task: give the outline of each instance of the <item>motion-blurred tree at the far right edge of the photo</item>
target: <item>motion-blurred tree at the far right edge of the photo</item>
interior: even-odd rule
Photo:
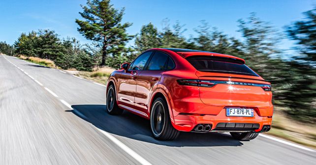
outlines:
[[[297,42],[297,55],[289,62],[291,91],[285,99],[298,119],[316,122],[316,8],[304,13],[306,18],[286,27],[287,35]]]

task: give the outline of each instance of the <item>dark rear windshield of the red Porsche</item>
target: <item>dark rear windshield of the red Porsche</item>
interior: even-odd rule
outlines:
[[[258,76],[245,64],[230,58],[191,56],[187,60],[198,71]]]

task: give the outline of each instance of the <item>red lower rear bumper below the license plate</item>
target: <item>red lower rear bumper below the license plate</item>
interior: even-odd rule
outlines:
[[[212,125],[210,132],[260,132],[264,125],[271,125],[271,123],[272,116],[260,116],[257,111],[254,111],[253,117],[232,117],[226,116],[226,110],[222,109],[217,115],[205,114],[200,116],[180,113],[174,116],[173,126],[184,132],[194,131],[194,127],[198,124]]]

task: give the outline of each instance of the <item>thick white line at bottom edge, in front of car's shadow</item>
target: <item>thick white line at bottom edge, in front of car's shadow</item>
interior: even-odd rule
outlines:
[[[129,147],[127,147],[123,142],[121,142],[119,139],[115,138],[113,135],[111,135],[108,132],[105,132],[97,127],[95,127],[98,131],[100,131],[103,135],[105,135],[107,138],[109,138],[112,142],[114,142],[116,145],[118,145],[121,149],[123,149],[128,155],[133,157],[136,161],[138,161],[142,165],[152,165],[148,161],[146,161],[143,157],[138,155],[136,152],[131,150]]]

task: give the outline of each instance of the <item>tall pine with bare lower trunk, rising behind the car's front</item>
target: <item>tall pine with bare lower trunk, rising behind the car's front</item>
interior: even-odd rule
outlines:
[[[126,33],[126,28],[131,24],[121,24],[124,8],[120,11],[115,9],[110,0],[88,0],[87,6],[81,6],[83,12],[79,13],[85,20],[76,19],[78,31],[102,46],[101,65],[104,65],[109,53],[120,53],[126,49],[126,42],[132,38]]]

